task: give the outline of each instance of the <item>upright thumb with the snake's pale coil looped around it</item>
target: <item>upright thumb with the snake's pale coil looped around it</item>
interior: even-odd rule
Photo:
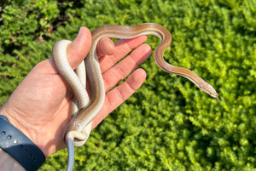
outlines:
[[[90,50],[90,30],[81,27],[79,35],[67,47],[67,58],[70,66],[75,69],[84,60]]]

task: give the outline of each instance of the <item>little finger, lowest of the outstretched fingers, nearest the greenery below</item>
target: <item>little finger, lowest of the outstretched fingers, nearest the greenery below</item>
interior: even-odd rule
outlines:
[[[137,88],[141,87],[145,79],[146,72],[143,69],[137,69],[127,78],[125,83],[120,84],[118,87],[108,92],[102,110],[92,122],[92,128],[96,128],[111,111],[127,100],[131,94],[134,94]]]

